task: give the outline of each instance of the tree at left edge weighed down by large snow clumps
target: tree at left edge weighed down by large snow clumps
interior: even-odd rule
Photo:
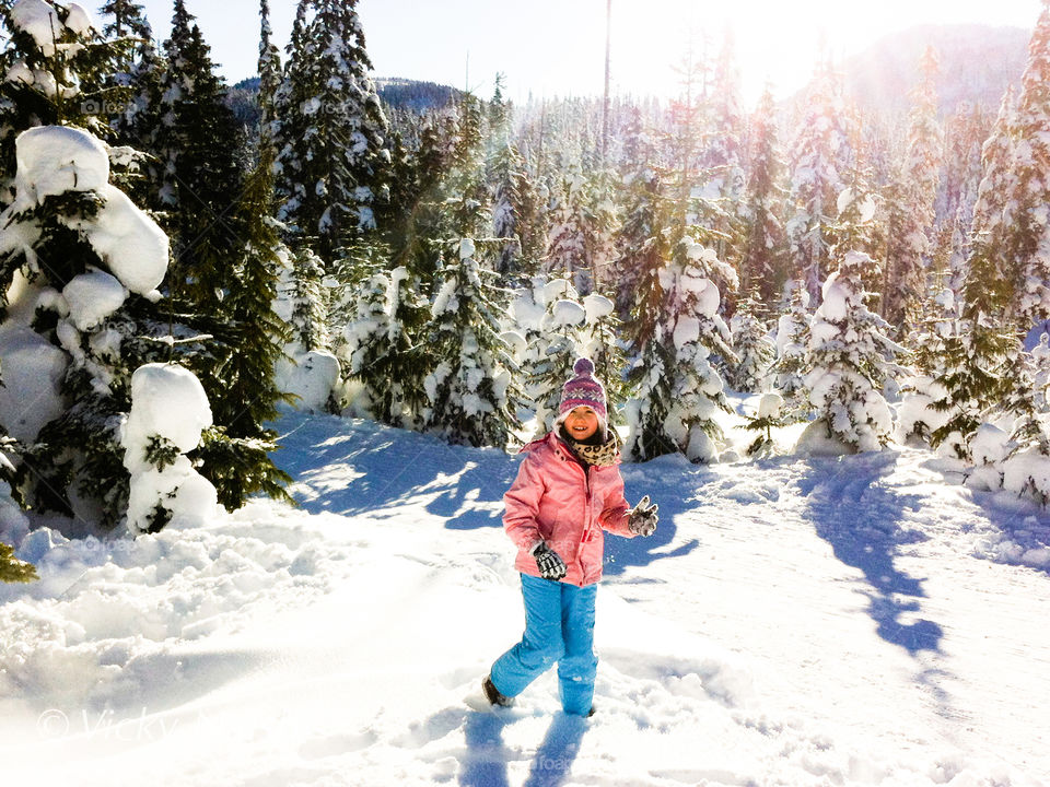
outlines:
[[[25,505],[116,526],[130,371],[170,356],[155,305],[167,237],[109,180],[105,144],[58,126],[18,138],[0,214],[0,420],[25,446]]]

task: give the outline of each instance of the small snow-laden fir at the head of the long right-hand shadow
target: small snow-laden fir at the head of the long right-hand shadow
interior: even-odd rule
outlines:
[[[894,425],[883,386],[897,371],[887,357],[901,349],[886,337],[886,321],[865,305],[862,277],[876,265],[859,251],[842,257],[824,283],[806,345],[805,386],[817,427],[854,451],[879,449]]]

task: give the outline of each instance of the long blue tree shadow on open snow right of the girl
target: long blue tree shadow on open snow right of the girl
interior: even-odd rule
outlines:
[[[838,560],[864,574],[867,587],[862,592],[878,635],[912,656],[941,653],[943,629],[917,616],[926,598],[923,580],[895,565],[901,547],[926,538],[901,526],[905,510],[918,508],[922,497],[898,494],[880,483],[896,461],[891,451],[810,459],[812,472],[798,486],[808,498],[807,514],[817,535],[831,544]],[[901,620],[906,614],[912,622]]]

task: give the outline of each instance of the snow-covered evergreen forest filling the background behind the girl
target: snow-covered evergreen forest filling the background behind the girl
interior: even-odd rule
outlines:
[[[586,355],[630,461],[718,461],[747,392],[758,434],[925,445],[1045,504],[1043,5],[998,108],[942,115],[931,48],[901,116],[827,56],[746,111],[731,38],[670,102],[384,99],[355,0],[300,0],[283,52],[261,0],[234,91],[182,0],[163,43],[133,2],[3,0],[0,497],[81,535],[288,498],[285,406],[513,450]]]

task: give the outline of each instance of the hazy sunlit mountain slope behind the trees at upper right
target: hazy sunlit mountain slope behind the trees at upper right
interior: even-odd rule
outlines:
[[[919,78],[918,63],[928,46],[937,50],[941,111],[970,102],[999,108],[1006,85],[1019,86],[1031,31],[987,25],[921,25],[882,38],[845,59],[847,93],[862,109],[907,113],[909,92]]]

